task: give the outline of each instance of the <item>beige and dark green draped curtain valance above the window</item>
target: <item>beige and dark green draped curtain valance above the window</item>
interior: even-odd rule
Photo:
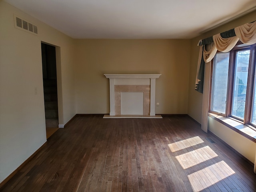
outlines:
[[[195,88],[198,92],[203,93],[205,63],[210,62],[214,58],[217,50],[220,52],[229,52],[232,50],[238,40],[241,40],[241,42],[248,45],[256,43],[256,22],[238,26],[232,30],[216,34],[210,38],[206,38],[198,42],[198,45],[201,47],[198,58],[198,65],[200,66],[198,66],[198,71],[196,74]],[[212,46],[210,50],[207,51],[205,44],[209,43],[211,43]]]

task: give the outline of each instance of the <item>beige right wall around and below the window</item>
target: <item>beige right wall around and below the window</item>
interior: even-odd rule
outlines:
[[[230,30],[236,26],[252,22],[256,18],[256,12],[252,12],[236,19],[232,22],[224,24],[210,32],[202,34],[191,40],[191,58],[190,58],[190,78],[189,78],[189,96],[188,96],[188,115],[194,118],[196,121],[201,123],[202,118],[202,94],[194,90],[197,61],[199,54],[199,47],[197,43],[200,39],[207,38],[214,34]],[[232,146],[235,150],[240,152],[243,156],[248,158],[251,162],[254,162],[256,143],[250,141],[244,136],[234,132],[230,128],[220,124],[216,120],[208,117],[208,130],[214,133],[216,136],[224,140],[227,144]]]

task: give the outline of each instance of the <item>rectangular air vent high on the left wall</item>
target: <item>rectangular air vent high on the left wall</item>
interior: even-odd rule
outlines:
[[[32,33],[37,35],[37,26],[33,25],[31,22],[20,18],[19,16],[14,15],[14,26],[17,29]]]

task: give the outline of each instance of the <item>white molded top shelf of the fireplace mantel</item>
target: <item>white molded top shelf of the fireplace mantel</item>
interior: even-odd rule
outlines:
[[[109,79],[156,79],[161,74],[104,74]]]

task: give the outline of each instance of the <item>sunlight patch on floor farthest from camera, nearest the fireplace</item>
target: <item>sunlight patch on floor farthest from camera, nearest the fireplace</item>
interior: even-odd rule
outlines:
[[[168,144],[168,146],[172,152],[176,152],[191,146],[198,145],[203,142],[204,141],[199,136],[196,136],[196,137],[192,137],[192,138],[184,139],[182,141]]]

